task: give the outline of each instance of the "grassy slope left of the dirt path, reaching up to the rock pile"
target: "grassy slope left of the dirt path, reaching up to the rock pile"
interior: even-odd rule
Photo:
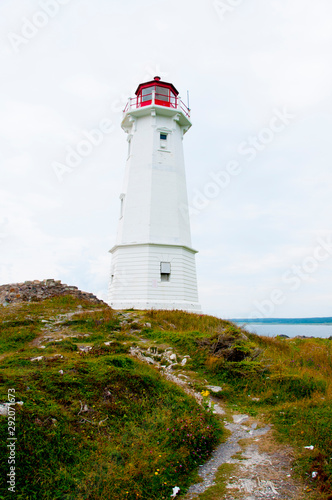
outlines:
[[[184,491],[220,440],[219,422],[128,355],[133,337],[112,310],[84,309],[89,304],[68,296],[0,309],[6,346],[0,400],[15,388],[24,403],[15,406],[16,498],[162,500],[174,486]],[[59,326],[61,314],[75,311]],[[18,341],[24,321],[31,336]],[[52,329],[42,330],[52,322],[60,328],[54,335],[66,339],[43,340],[41,350],[31,341],[49,336]],[[82,352],[82,344],[92,349]],[[7,456],[6,417],[0,417],[0,437]],[[0,468],[5,499],[7,461]]]

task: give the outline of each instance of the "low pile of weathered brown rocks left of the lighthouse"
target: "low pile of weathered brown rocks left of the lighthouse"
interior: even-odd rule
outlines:
[[[68,286],[53,279],[0,286],[0,304],[2,305],[16,302],[35,302],[58,295],[72,295],[78,299],[89,300],[93,304],[105,304],[92,293],[82,292],[76,286]]]

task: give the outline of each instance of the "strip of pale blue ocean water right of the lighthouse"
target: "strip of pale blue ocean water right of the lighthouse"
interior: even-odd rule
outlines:
[[[267,337],[276,337],[277,335],[288,335],[288,337],[297,337],[303,335],[306,337],[332,337],[332,325],[312,325],[312,324],[292,324],[292,325],[276,325],[276,324],[255,324],[236,322],[239,326],[245,326],[246,330],[257,335],[265,335]]]

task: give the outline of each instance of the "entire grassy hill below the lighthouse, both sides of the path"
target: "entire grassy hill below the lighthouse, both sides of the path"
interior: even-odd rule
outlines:
[[[199,391],[220,385],[230,407],[264,414],[295,446],[298,471],[318,472],[319,498],[332,498],[331,341],[264,338],[181,311],[115,312],[70,295],[0,306],[0,321],[0,402],[13,389],[23,402],[15,405],[16,498],[162,500],[197,480],[221,424],[131,356],[133,346],[166,365],[170,347],[190,356],[174,371],[194,373]],[[8,457],[5,414],[0,436]],[[0,499],[10,498],[9,467],[2,460]]]

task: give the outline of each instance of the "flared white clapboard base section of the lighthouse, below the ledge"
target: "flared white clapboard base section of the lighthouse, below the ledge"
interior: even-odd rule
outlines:
[[[192,248],[137,243],[117,245],[111,253],[108,304],[114,309],[201,311]]]

